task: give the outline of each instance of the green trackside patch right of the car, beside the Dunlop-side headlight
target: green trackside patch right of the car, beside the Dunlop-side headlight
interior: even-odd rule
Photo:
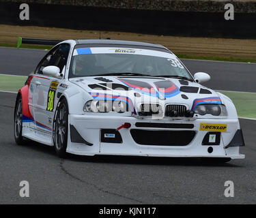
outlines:
[[[256,93],[220,92],[233,101],[238,116],[256,119]]]

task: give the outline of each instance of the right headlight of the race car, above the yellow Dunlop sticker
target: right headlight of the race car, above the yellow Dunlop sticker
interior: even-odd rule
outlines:
[[[196,114],[205,115],[212,114],[213,116],[227,116],[227,110],[223,104],[200,104],[195,109]]]

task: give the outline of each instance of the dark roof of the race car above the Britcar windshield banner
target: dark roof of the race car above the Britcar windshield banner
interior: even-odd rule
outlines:
[[[153,47],[153,48],[165,48],[165,46],[161,46],[159,44],[153,44],[148,42],[137,42],[137,41],[126,41],[126,40],[76,40],[76,44],[116,44],[116,45],[127,45],[127,46],[145,46],[145,47]],[[169,51],[169,50],[168,50]]]

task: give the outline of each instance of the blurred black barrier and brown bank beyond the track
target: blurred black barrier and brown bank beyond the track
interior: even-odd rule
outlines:
[[[29,20],[19,18],[21,3]],[[227,3],[234,20],[224,18]],[[255,0],[0,0],[0,44],[111,37],[163,44],[184,58],[255,62],[255,12]]]

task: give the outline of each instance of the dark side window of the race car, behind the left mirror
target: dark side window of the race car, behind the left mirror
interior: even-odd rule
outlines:
[[[36,74],[42,74],[44,67],[54,65],[59,67],[60,72],[66,65],[68,60],[68,53],[70,51],[69,44],[61,44],[53,48],[48,54],[40,61],[38,67],[35,69]]]

